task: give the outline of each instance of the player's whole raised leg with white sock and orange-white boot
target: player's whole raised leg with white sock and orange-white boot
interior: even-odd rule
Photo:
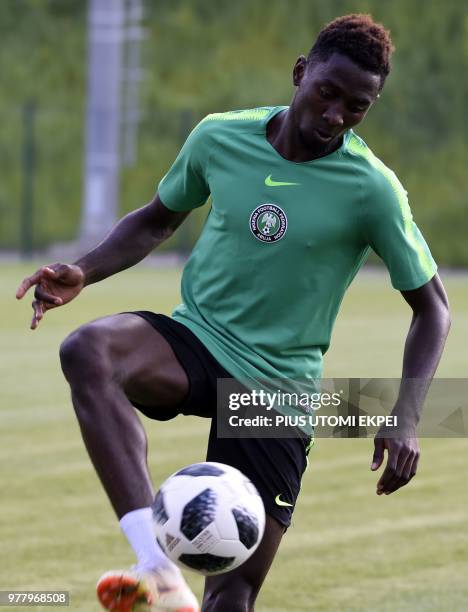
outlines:
[[[189,389],[185,371],[161,334],[134,314],[84,325],[60,356],[89,456],[137,557],[135,570],[100,578],[101,604],[118,611],[157,602],[197,612],[195,596],[154,537],[147,439],[129,400],[177,414]]]

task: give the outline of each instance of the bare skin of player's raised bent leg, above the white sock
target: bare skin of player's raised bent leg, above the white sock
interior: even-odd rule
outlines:
[[[146,434],[128,398],[176,414],[189,383],[172,348],[141,317],[119,314],[73,332],[60,357],[83,440],[117,516],[150,506]]]

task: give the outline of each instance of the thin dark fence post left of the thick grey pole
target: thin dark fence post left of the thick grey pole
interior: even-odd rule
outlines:
[[[21,255],[31,259],[34,247],[34,173],[36,104],[27,102],[23,107],[22,194],[21,194]]]

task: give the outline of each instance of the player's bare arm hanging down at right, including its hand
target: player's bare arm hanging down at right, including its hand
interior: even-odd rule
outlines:
[[[377,434],[372,459],[372,470],[383,462],[384,450],[388,460],[377,483],[377,494],[390,494],[406,485],[416,474],[419,444],[416,426],[423,402],[444,350],[450,329],[447,294],[439,276],[412,291],[402,291],[413,310],[403,357],[402,383],[392,414],[398,417],[399,437]]]

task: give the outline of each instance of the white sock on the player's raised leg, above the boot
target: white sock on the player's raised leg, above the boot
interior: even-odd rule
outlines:
[[[151,571],[172,565],[156,541],[152,514],[151,508],[139,508],[120,519],[122,531],[135,552],[137,570]]]

